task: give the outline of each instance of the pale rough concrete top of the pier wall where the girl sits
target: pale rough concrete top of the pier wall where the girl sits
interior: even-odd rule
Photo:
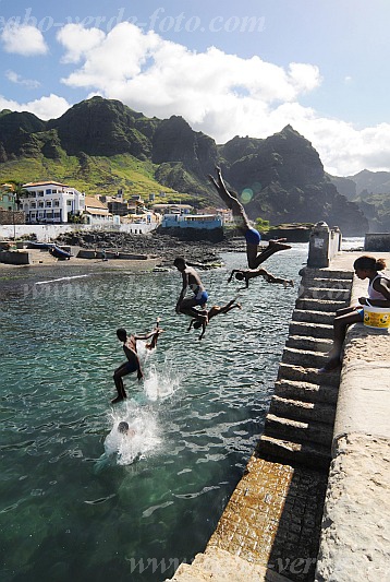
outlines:
[[[351,302],[366,294],[355,278]],[[389,331],[356,323],[344,343],[318,582],[389,580]]]

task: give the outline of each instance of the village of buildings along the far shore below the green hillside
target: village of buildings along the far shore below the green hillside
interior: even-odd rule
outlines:
[[[150,193],[147,201],[141,194],[125,197],[122,190],[113,197],[88,197],[62,182],[46,180],[19,185],[17,193],[14,188],[14,183],[4,183],[0,189],[0,246],[3,250],[0,262],[9,264],[36,264],[32,250],[25,250],[28,240],[32,239],[32,245],[49,245],[46,250],[50,250],[50,245],[65,233],[111,233],[114,248],[100,249],[97,245],[92,254],[87,250],[77,251],[78,258],[101,258],[103,253],[107,259],[119,259],[121,254],[122,260],[131,260],[134,251],[119,248],[115,233],[146,235],[159,229],[161,234],[200,242],[218,241],[223,239],[223,227],[232,224],[232,213],[228,209],[207,207],[197,212],[193,205],[181,202],[157,203],[155,193]],[[166,193],[159,192],[158,197],[164,200]],[[70,259],[70,247],[57,244],[56,257]],[[41,259],[40,256],[38,260]]]

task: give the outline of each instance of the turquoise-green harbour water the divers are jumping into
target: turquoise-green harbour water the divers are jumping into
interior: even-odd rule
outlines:
[[[267,269],[300,282],[307,246]],[[234,297],[228,270],[202,274],[209,305]],[[296,287],[263,280],[205,338],[174,313],[176,271],[83,276],[80,268],[1,273],[1,580],[160,581],[203,551],[261,432]],[[65,277],[65,278],[63,278]],[[66,278],[72,277],[72,278]],[[73,278],[74,277],[74,278]],[[125,379],[115,329],[161,317],[145,384]],[[119,438],[126,419],[133,438]]]

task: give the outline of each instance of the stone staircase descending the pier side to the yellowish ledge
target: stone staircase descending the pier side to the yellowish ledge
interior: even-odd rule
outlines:
[[[304,269],[289,338],[257,452],[266,459],[327,470],[340,371],[321,373],[334,311],[351,298],[353,274]]]

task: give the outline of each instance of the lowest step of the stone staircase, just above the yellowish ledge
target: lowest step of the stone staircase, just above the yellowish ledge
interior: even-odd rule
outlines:
[[[293,442],[263,435],[258,441],[257,451],[261,455],[267,455],[271,461],[281,460],[292,464],[303,464],[310,468],[329,470],[329,447],[319,443]]]

